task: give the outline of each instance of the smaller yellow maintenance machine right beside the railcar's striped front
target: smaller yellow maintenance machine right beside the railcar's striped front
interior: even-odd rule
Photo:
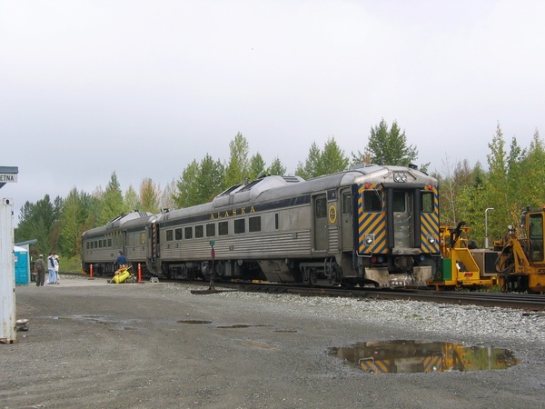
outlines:
[[[474,255],[480,256],[482,260],[488,254],[470,249],[469,230],[465,222],[460,222],[456,227],[440,226],[442,260],[433,277],[428,280],[428,285],[436,290],[452,290],[478,289],[497,284],[496,275],[485,272],[484,262],[480,263],[481,266],[476,262]]]

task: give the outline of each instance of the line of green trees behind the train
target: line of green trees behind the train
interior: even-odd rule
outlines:
[[[32,251],[55,251],[64,257],[81,254],[81,235],[85,230],[104,225],[120,214],[138,209],[160,213],[164,208],[183,208],[209,202],[215,195],[232,185],[254,180],[262,175],[286,175],[280,158],[266,165],[259,153],[250,155],[249,143],[238,133],[229,144],[227,162],[205,155],[200,161],[183,168],[182,175],[164,187],[144,178],[138,189],[132,185],[123,192],[115,171],[103,189],[79,191],[74,187],[65,197],[52,199],[45,195],[36,203],[26,202],[20,209],[15,228],[15,242],[37,239]],[[488,170],[481,163],[473,167],[467,160],[451,163],[447,156],[441,172],[435,172],[440,185],[441,224],[466,222],[471,239],[482,246],[488,214],[490,243],[507,233],[507,225],[517,226],[520,212],[526,205],[532,208],[545,204],[545,149],[538,131],[531,144],[521,147],[513,137],[509,150],[497,125],[489,143]],[[330,137],[320,147],[313,142],[306,159],[297,164],[294,175],[304,179],[341,172],[357,164],[409,165],[418,158],[418,150],[408,145],[405,131],[397,122],[388,125],[384,119],[371,128],[368,144],[363,151],[351,152],[350,157]],[[420,165],[427,171],[429,164]]]

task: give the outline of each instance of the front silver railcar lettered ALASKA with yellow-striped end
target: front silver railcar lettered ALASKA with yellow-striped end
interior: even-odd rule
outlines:
[[[438,185],[402,166],[266,176],[158,215],[148,236],[148,269],[169,277],[425,285],[441,258]]]

